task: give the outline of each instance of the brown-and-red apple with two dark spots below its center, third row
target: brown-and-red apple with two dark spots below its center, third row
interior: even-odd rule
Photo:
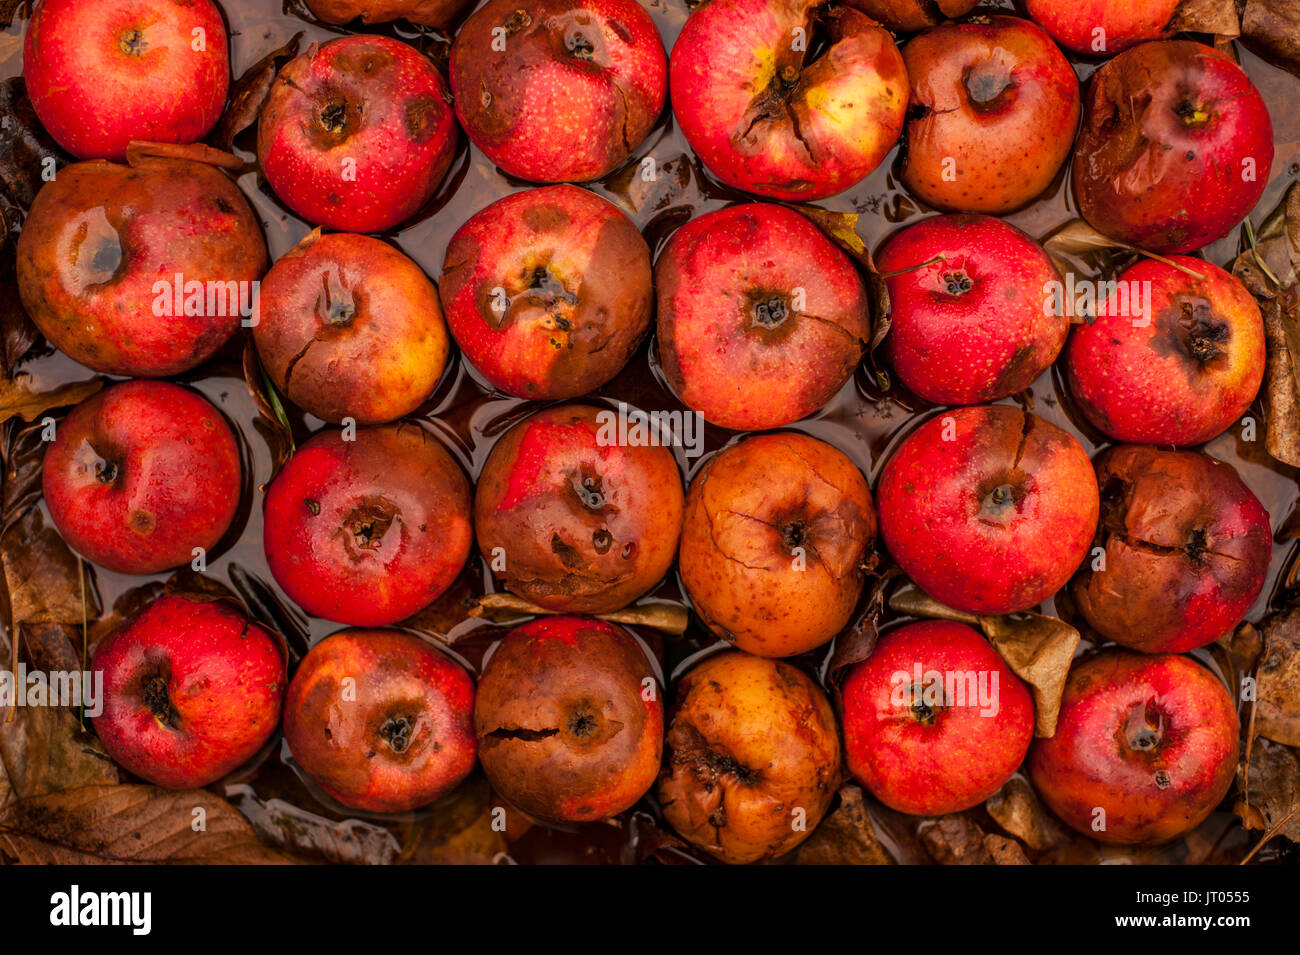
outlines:
[[[497,442],[474,490],[478,550],[506,589],[560,613],[608,613],[663,579],[681,535],[681,473],[663,446],[603,437],[616,412],[547,408]]]

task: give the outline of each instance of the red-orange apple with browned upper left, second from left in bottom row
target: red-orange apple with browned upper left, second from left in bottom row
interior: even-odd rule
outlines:
[[[343,806],[407,812],[473,770],[473,706],[469,674],[419,637],[341,630],[298,665],[285,741],[302,770]]]

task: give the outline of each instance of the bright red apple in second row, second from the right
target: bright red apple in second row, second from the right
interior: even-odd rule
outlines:
[[[937,256],[942,260],[932,261]],[[885,278],[892,305],[885,353],[904,385],[927,401],[976,404],[1023,391],[1070,334],[1070,320],[1044,307],[1044,288],[1061,281],[1052,260],[1001,220],[928,218],[894,235],[876,265],[887,275],[900,273]]]

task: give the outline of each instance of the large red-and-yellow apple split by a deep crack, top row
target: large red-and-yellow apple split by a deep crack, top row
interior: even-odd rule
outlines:
[[[861,182],[893,148],[907,73],[870,17],[818,0],[712,0],[672,48],[672,110],[719,179],[770,199],[824,199]],[[814,62],[794,30],[820,16],[829,47]]]

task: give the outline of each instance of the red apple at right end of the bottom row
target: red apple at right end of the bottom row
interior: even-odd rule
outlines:
[[[1222,802],[1238,735],[1232,698],[1204,667],[1110,650],[1070,669],[1056,735],[1034,742],[1027,767],[1048,808],[1088,838],[1160,843]],[[1097,808],[1105,829],[1093,832]]]

